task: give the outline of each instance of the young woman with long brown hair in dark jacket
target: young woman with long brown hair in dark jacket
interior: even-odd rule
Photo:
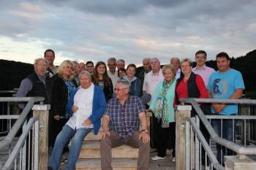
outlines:
[[[95,65],[92,82],[102,88],[106,101],[108,101],[113,94],[113,84],[110,77],[108,77],[107,66],[103,61],[99,61]]]

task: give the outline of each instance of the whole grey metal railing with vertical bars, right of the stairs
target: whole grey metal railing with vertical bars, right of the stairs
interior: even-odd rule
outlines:
[[[195,144],[195,161],[193,163],[187,163],[187,169],[190,169],[192,167],[195,167],[195,169],[202,169],[202,158],[204,158],[205,162],[204,165],[208,166],[208,169],[213,169],[213,167],[215,169],[223,169],[224,167],[222,166],[223,161],[221,160],[219,163],[216,162],[216,157],[214,155],[212,155],[211,152],[209,151],[209,148],[212,149],[213,147],[211,146],[212,141],[216,142],[216,144],[221,145],[222,147],[225,147],[222,152],[224,150],[233,150],[234,152],[236,152],[237,155],[256,155],[256,147],[246,147],[246,138],[248,138],[248,134],[250,134],[250,131],[246,132],[246,129],[249,129],[249,125],[255,125],[255,122],[252,123],[252,121],[256,120],[256,116],[250,116],[250,115],[227,115],[227,116],[223,116],[223,115],[204,115],[203,111],[200,109],[200,105],[198,103],[225,103],[225,104],[250,104],[250,105],[255,105],[256,104],[256,100],[248,100],[248,99],[239,99],[239,100],[230,100],[230,99],[212,99],[212,98],[183,98],[181,100],[182,102],[188,103],[188,104],[192,104],[192,107],[195,109],[195,112],[197,112],[197,116],[199,117],[197,120],[193,120],[193,119],[188,119],[187,123],[189,125],[187,125],[186,127],[186,132],[188,133],[190,130],[190,125],[192,126],[191,128],[193,129],[192,134],[195,133],[195,140],[191,139],[192,134],[187,134],[187,142],[194,142]],[[208,120],[209,119],[209,120]],[[233,131],[235,131],[235,128],[240,128],[240,129],[236,129],[236,131],[240,131],[240,134],[243,134],[244,136],[244,144],[241,143],[241,140],[236,140],[235,135],[233,134],[233,140],[232,141],[228,141],[227,139],[223,139],[222,138],[222,134],[218,135],[216,133],[216,131],[214,130],[214,128],[211,126],[211,121],[212,120],[220,120],[222,122],[222,120],[232,120],[232,128]],[[236,120],[241,120],[240,124],[236,124]],[[200,135],[202,134],[200,131],[200,121],[201,123],[206,127],[208,134],[211,136],[211,140],[209,142],[206,141],[206,139],[204,138],[204,136]],[[210,122],[209,122],[210,121]],[[241,123],[242,122],[242,123]],[[187,124],[186,123],[186,124]],[[249,125],[247,125],[249,124]],[[222,123],[221,123],[222,126]],[[249,127],[248,127],[249,126]],[[222,128],[222,127],[221,127]],[[241,130],[243,130],[244,132],[241,133]],[[239,133],[238,133],[239,134]],[[241,137],[241,136],[240,136]],[[194,137],[193,137],[194,138]],[[186,142],[186,146],[190,146],[191,148],[191,144],[187,144]],[[253,142],[251,139],[247,140],[247,142]],[[203,153],[205,155],[202,155],[202,150],[205,150],[206,152]],[[187,150],[187,149],[186,149]],[[222,153],[223,155],[223,153]],[[221,155],[221,158],[222,158]],[[191,155],[186,155],[186,161],[191,161]],[[208,160],[207,160],[208,159]],[[190,166],[189,166],[190,164]],[[191,166],[192,165],[192,166]]]

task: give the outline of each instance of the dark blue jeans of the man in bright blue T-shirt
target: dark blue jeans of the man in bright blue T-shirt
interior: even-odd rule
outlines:
[[[221,123],[222,123],[222,134],[221,134]],[[234,123],[236,124],[235,121],[234,121]],[[234,133],[233,132],[233,120],[223,119],[222,122],[221,122],[221,120],[211,120],[211,124],[219,137],[221,137],[223,139],[227,139],[230,142],[233,142],[233,140],[235,140],[235,139],[233,139],[233,133]],[[220,145],[220,144],[216,144],[216,147],[217,147],[217,160],[219,161],[219,163],[222,163],[222,157],[224,155],[233,155],[234,154],[234,152],[229,149],[227,149],[227,152],[226,152],[226,148],[222,147],[222,145]],[[221,155],[221,153],[223,153],[223,154]]]

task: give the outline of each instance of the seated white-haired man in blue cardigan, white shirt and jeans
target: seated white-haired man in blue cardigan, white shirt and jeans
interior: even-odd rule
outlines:
[[[82,71],[79,74],[80,88],[75,89],[67,103],[67,111],[72,115],[56,138],[50,155],[48,169],[57,170],[65,145],[72,139],[66,169],[75,169],[83,139],[93,129],[96,135],[100,128],[106,100],[99,86],[91,82],[91,74]]]

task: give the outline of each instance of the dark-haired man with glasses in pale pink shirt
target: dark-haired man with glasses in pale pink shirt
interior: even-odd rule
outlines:
[[[195,74],[199,74],[200,77],[203,78],[203,82],[207,86],[208,80],[211,74],[215,72],[215,70],[211,67],[206,66],[206,57],[207,54],[204,50],[199,50],[197,51],[197,53],[195,53],[195,62],[197,63],[197,66],[192,69],[192,72],[194,72]]]

